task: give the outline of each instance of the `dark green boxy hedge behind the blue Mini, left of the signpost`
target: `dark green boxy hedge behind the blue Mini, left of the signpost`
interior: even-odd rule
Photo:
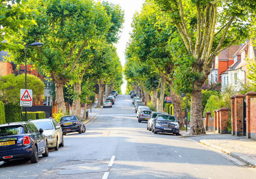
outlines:
[[[4,105],[5,122],[20,122],[21,107],[18,104],[8,103]]]

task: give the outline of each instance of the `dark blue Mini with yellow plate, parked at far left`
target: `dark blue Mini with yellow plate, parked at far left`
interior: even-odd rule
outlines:
[[[29,158],[38,162],[38,156],[48,157],[47,138],[43,129],[31,122],[16,122],[0,125],[0,161]]]

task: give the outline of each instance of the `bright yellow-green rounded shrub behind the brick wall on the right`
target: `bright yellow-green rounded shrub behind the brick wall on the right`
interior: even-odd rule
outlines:
[[[204,111],[203,111],[203,117],[206,116],[206,112],[210,111],[211,116],[214,116],[214,110],[219,109],[221,107],[224,107],[225,103],[223,103],[219,96],[211,95],[210,98],[207,100],[207,104],[205,105]]]

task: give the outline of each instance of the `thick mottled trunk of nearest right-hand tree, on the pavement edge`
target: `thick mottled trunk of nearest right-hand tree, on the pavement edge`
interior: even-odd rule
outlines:
[[[202,87],[194,85],[191,92],[190,135],[205,134],[202,116]]]

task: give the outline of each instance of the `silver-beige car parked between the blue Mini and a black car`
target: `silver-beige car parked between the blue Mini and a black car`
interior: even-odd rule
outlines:
[[[34,123],[38,130],[40,128],[44,129],[43,134],[47,136],[48,148],[54,147],[55,150],[58,150],[59,147],[64,147],[62,129],[55,119],[37,119],[30,122]]]

